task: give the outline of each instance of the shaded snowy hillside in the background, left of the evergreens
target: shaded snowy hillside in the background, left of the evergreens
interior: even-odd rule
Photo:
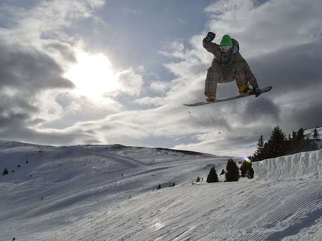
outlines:
[[[227,158],[140,147],[51,147],[0,141],[0,240],[43,240],[89,212],[156,189],[191,184]],[[14,171],[14,172],[13,172]],[[48,239],[46,239],[48,240]]]

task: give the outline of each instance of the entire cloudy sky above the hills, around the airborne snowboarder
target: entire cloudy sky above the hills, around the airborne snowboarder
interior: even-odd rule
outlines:
[[[122,144],[225,156],[253,154],[260,135],[321,126],[319,0],[68,0],[0,3],[0,139]],[[239,42],[260,97],[204,99],[213,55]],[[237,94],[219,84],[218,97]]]

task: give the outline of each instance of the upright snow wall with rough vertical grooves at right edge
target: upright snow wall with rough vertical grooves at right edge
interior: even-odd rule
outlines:
[[[301,152],[253,163],[254,177],[260,181],[322,177],[321,167],[322,150]]]

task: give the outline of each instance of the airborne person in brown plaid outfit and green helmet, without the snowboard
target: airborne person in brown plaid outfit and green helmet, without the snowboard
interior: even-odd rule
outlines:
[[[224,35],[220,45],[212,43],[216,34],[209,32],[203,39],[203,47],[215,57],[211,67],[207,71],[205,83],[205,95],[208,102],[216,100],[218,83],[228,83],[236,80],[240,94],[259,96],[261,89],[250,66],[239,53],[239,44],[236,40]],[[253,88],[250,88],[250,83]]]

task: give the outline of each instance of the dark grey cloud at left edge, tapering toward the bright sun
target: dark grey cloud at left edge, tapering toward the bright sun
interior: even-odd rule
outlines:
[[[39,89],[73,88],[63,77],[62,68],[47,54],[33,47],[0,44],[0,89],[14,87],[28,94]]]

